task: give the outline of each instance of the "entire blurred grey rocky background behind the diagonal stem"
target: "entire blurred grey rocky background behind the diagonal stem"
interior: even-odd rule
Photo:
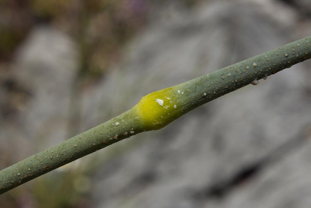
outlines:
[[[311,35],[309,0],[0,1],[0,168],[152,91]],[[310,207],[311,61],[0,196],[1,207]]]

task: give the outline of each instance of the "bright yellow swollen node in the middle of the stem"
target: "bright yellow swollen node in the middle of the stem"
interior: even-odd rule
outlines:
[[[163,128],[182,114],[182,96],[178,85],[161,89],[142,97],[135,106],[146,130]]]

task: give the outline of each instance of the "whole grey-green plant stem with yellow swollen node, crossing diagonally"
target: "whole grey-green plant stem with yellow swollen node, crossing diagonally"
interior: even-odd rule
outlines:
[[[148,94],[125,113],[0,171],[0,194],[132,135],[160,129],[202,104],[310,57],[311,36]]]

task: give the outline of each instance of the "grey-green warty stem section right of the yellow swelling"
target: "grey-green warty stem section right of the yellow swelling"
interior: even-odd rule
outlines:
[[[310,58],[311,36],[182,83],[189,89],[187,111]]]

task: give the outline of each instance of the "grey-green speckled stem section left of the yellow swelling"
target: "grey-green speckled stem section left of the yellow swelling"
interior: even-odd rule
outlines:
[[[132,109],[0,171],[0,194],[80,157],[143,132]],[[118,123],[119,124],[118,124]]]

